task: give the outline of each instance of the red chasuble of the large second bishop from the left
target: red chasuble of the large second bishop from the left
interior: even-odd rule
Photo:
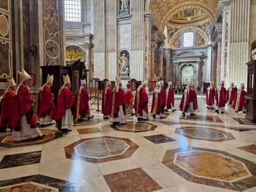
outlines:
[[[12,129],[20,131],[20,119],[24,115],[26,115],[27,123],[30,127],[36,128],[36,118],[33,113],[34,99],[31,97],[29,87],[23,83],[18,89],[17,95],[15,95],[15,99],[13,101],[13,105],[15,105],[16,108],[13,110],[12,115]]]

